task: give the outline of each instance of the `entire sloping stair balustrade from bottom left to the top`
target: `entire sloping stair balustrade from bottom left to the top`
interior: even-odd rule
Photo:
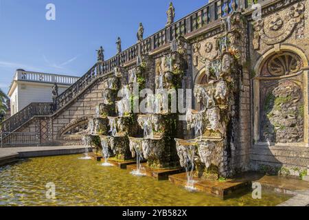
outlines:
[[[162,45],[170,43],[170,41],[177,39],[179,36],[189,34],[190,32],[194,32],[205,27],[205,25],[208,25],[209,23],[218,21],[222,17],[226,17],[228,14],[231,14],[233,9],[238,10],[239,8],[248,8],[249,1],[253,0],[215,0],[207,3],[207,5],[166,26],[165,28],[159,30],[159,32],[148,36],[143,41],[128,47],[128,49],[109,58],[107,61],[96,63],[86,74],[84,74],[84,76],[79,78],[76,83],[60,94],[60,96],[56,98],[54,104],[31,103],[25,107],[25,109],[19,111],[19,113],[16,113],[11,118],[8,118],[8,120],[1,123],[2,131],[14,131],[14,129],[21,126],[27,120],[36,115],[36,113],[37,115],[50,115],[54,113],[58,109],[64,107],[73,98],[78,96],[81,91],[97,79],[97,76],[113,72],[114,67],[124,65],[124,63],[133,61],[139,55],[147,54]],[[258,2],[262,1],[263,0],[259,0]],[[40,104],[43,104],[43,107],[49,110],[33,112],[32,109],[36,109],[40,106]],[[4,130],[3,127],[5,127]]]

